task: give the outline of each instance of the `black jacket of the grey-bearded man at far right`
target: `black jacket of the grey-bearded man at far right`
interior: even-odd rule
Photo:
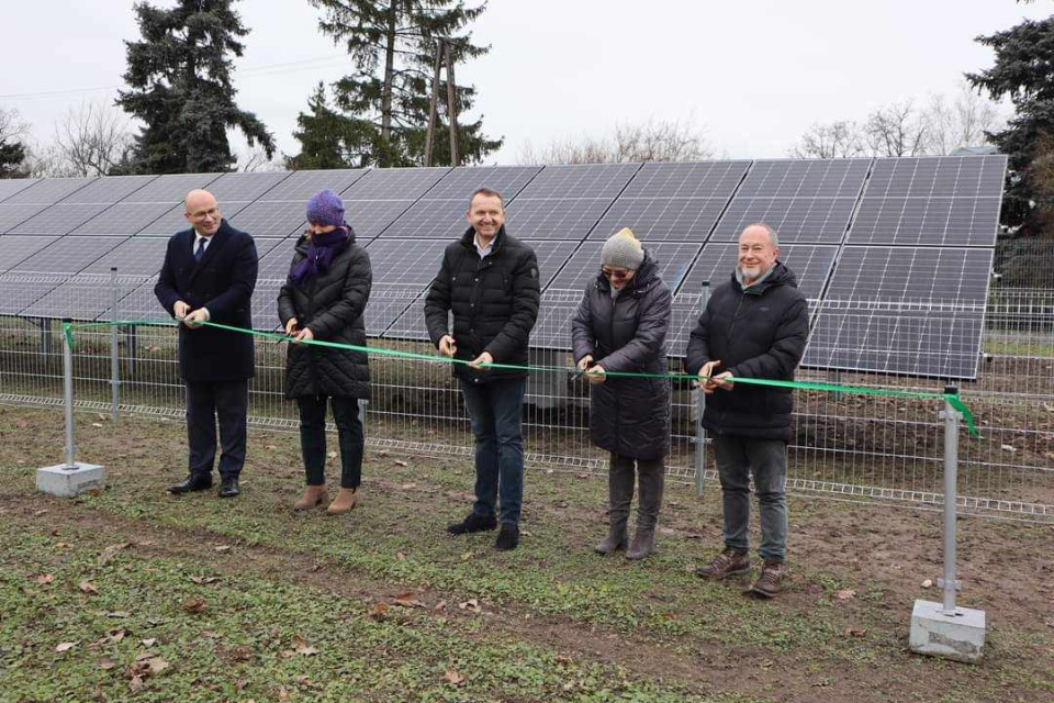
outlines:
[[[809,306],[794,272],[781,263],[745,291],[736,280],[718,287],[692,331],[688,373],[720,359],[715,375],[794,380],[809,336]],[[703,425],[722,435],[790,440],[792,391],[737,383],[706,397]]]

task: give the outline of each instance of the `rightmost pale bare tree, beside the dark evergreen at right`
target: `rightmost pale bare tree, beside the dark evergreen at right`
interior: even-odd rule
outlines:
[[[962,146],[988,144],[985,133],[995,132],[1005,122],[999,107],[971,90],[965,82],[953,102],[942,94],[930,98],[923,119],[930,154],[951,154]]]

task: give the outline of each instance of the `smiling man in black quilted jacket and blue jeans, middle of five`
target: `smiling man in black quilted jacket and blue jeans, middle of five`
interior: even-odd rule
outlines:
[[[538,259],[505,232],[501,194],[480,188],[466,213],[469,231],[442,253],[442,265],[425,298],[428,336],[444,356],[462,359],[453,373],[461,381],[475,437],[475,504],[455,535],[502,529],[494,547],[519,544],[524,495],[522,431],[527,372],[487,368],[527,365],[527,344],[538,317]],[[453,313],[453,333],[448,326]],[[500,499],[500,500],[498,500]],[[495,503],[501,512],[495,517]]]

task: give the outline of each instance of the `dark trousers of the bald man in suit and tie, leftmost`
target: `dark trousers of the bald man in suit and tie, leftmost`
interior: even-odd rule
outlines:
[[[211,477],[220,423],[220,477],[236,479],[245,466],[249,381],[187,383],[187,444],[190,475]]]

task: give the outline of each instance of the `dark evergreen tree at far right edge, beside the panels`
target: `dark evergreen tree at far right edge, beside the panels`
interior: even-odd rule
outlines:
[[[1038,168],[1051,161],[1054,144],[1054,16],[1025,20],[976,41],[995,49],[996,62],[966,79],[993,99],[1009,97],[1014,108],[1007,129],[988,135],[1010,157],[1003,223],[1035,233],[1044,211],[1054,205],[1054,185]]]

